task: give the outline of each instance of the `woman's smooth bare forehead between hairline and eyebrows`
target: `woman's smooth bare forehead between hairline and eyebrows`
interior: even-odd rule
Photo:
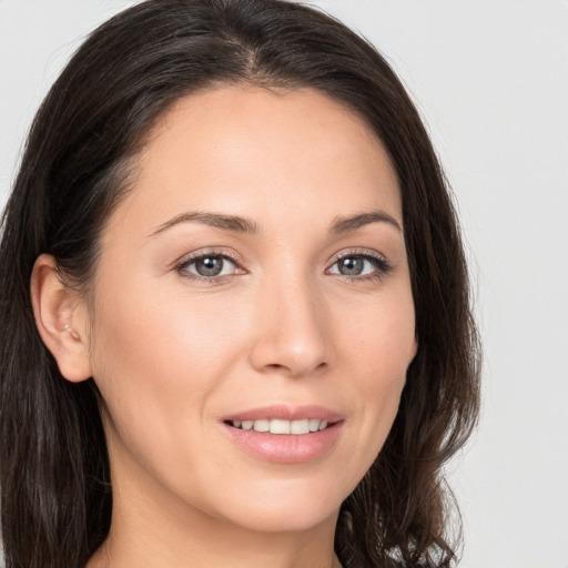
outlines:
[[[358,114],[311,89],[225,87],[181,99],[156,122],[111,224],[134,216],[152,231],[199,210],[262,227],[376,207],[402,224],[390,160]]]

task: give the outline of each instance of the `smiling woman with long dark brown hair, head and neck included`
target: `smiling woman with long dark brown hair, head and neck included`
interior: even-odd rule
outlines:
[[[33,123],[0,251],[8,567],[449,566],[467,272],[373,47],[277,0],[150,0]]]

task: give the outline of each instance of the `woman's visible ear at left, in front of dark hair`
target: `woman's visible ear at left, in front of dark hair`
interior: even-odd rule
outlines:
[[[61,281],[55,258],[49,254],[36,261],[30,285],[36,325],[59,371],[72,383],[88,379],[91,362],[84,300]]]

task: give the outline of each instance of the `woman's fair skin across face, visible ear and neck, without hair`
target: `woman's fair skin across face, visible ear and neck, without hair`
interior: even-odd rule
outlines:
[[[318,92],[219,88],[162,116],[92,303],[49,255],[32,277],[62,375],[104,399],[113,517],[89,568],[338,566],[416,353],[402,226],[383,144]]]

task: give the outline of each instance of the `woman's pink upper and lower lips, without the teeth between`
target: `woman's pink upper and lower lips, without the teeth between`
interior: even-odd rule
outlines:
[[[327,427],[310,434],[271,434],[235,428],[235,420],[302,420],[317,418],[326,420]],[[267,462],[301,464],[316,459],[333,448],[344,425],[339,413],[317,405],[287,406],[273,405],[252,408],[223,418],[223,427],[231,439],[247,454]]]

